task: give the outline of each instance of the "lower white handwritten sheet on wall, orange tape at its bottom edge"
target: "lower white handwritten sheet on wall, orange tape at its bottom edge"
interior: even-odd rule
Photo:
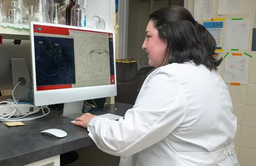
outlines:
[[[247,84],[249,57],[242,55],[228,55],[224,59],[225,83]]]

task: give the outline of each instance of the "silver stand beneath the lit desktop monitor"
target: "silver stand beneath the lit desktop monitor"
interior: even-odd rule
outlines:
[[[70,103],[64,103],[62,117],[75,120],[83,114],[83,102],[75,101]]]

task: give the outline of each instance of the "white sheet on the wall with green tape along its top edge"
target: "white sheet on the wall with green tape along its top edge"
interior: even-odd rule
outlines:
[[[250,19],[233,18],[226,21],[224,49],[248,50]]]

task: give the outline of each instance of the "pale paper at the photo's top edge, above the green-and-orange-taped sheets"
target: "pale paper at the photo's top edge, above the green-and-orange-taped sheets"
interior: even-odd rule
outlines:
[[[242,13],[241,0],[219,0],[218,15],[235,15]]]

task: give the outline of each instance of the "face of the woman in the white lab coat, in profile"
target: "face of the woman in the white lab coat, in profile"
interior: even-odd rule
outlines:
[[[150,66],[159,67],[162,65],[166,47],[167,44],[159,38],[158,31],[154,28],[154,23],[149,21],[142,49],[147,52]]]

